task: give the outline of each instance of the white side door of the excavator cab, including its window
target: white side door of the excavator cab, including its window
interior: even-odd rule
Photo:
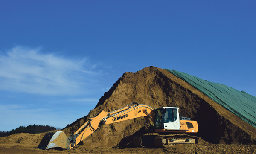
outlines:
[[[180,129],[180,117],[177,116],[176,108],[166,108],[163,115],[164,129]]]

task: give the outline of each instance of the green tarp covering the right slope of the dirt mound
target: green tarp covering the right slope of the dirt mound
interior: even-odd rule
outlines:
[[[256,128],[256,97],[244,91],[236,90],[224,84],[217,84],[191,76],[184,72],[166,69],[178,78],[186,81],[214,102],[220,104],[242,120]]]

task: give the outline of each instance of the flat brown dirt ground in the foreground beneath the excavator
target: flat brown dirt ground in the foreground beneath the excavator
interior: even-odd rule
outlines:
[[[3,142],[4,137],[0,137],[0,154],[255,154],[256,145],[224,145],[211,144],[200,140],[195,145],[173,145],[166,148],[112,148],[108,146],[87,147],[80,145],[71,150],[41,150],[38,149],[38,143],[30,143],[28,141],[35,139],[39,134],[15,134],[19,137],[26,138],[25,142],[12,140],[11,142]],[[30,139],[29,139],[30,138]]]

